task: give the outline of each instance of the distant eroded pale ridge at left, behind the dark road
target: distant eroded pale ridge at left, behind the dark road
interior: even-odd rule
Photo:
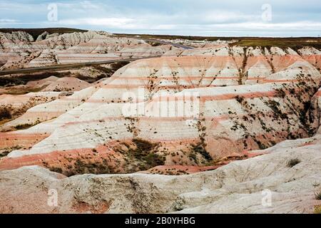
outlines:
[[[34,41],[26,32],[0,33],[0,69],[160,56],[171,46],[151,46],[143,40],[111,33],[65,33]]]

